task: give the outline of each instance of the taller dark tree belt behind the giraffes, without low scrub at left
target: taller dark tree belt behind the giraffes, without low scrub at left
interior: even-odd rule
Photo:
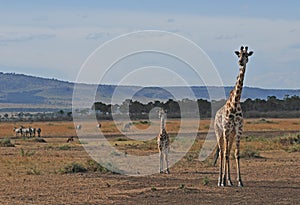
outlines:
[[[183,99],[174,101],[169,99],[166,102],[154,101],[141,103],[130,99],[122,104],[111,105],[102,102],[95,102],[92,110],[95,110],[98,118],[111,119],[112,114],[128,113],[132,120],[145,119],[149,117],[149,112],[155,107],[162,107],[167,110],[168,118],[180,118],[182,113],[187,117],[211,118],[218,108],[225,104],[225,100],[208,101],[198,99],[197,101]],[[196,112],[198,107],[199,113]],[[300,117],[300,97],[286,96],[284,99],[277,99],[275,96],[269,96],[267,99],[246,99],[241,102],[244,117],[246,118],[298,118]],[[213,108],[213,109],[212,109]]]

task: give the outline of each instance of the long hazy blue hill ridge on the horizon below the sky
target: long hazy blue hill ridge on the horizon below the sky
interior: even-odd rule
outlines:
[[[13,108],[27,107],[27,108],[71,108],[73,95],[73,82],[60,81],[56,79],[47,79],[35,76],[28,76],[24,74],[15,73],[0,73],[0,104],[1,109],[10,107]],[[92,85],[79,84],[80,89],[84,92],[86,89],[91,89]],[[109,103],[115,85],[99,85],[97,90],[97,101]],[[141,102],[147,101],[166,101],[170,98],[183,99],[188,98],[186,95],[186,87],[139,87],[139,86],[121,86],[118,87],[120,93],[118,94],[118,103],[123,102],[126,96],[131,96],[130,93],[135,93],[134,100]],[[210,99],[208,90],[217,91],[220,87],[205,87],[193,86],[190,88],[198,99]],[[226,95],[229,94],[232,87],[225,87]],[[300,96],[300,89],[262,89],[253,87],[244,87],[243,99],[267,99],[268,96],[275,96],[282,99],[286,95]],[[220,95],[215,95],[214,99],[218,100]],[[5,106],[4,106],[5,105]]]

